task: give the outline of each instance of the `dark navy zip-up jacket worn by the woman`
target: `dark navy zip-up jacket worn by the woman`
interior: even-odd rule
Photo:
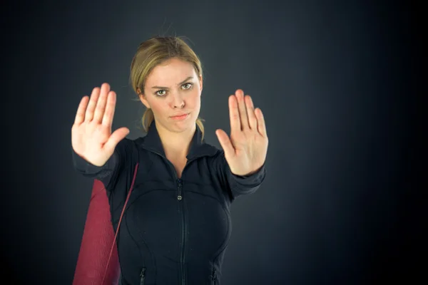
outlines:
[[[139,162],[116,239],[121,284],[220,284],[230,204],[255,192],[266,171],[263,165],[248,177],[233,175],[223,150],[201,138],[197,127],[181,179],[154,122],[145,137],[121,140],[102,167],[72,151],[76,171],[106,187],[115,231]]]

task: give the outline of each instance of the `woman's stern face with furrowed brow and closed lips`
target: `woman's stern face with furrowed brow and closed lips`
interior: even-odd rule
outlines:
[[[153,110],[157,128],[180,133],[195,128],[202,85],[191,63],[172,58],[153,68],[140,100]]]

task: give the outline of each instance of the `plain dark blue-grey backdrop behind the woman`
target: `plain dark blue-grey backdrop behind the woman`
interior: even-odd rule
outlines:
[[[118,94],[113,129],[144,135],[129,67],[138,44],[156,34],[188,37],[203,62],[208,142],[220,147],[215,128],[229,131],[228,95],[237,88],[265,114],[267,177],[233,204],[223,284],[422,276],[419,6],[58,2],[1,8],[2,276],[71,284],[93,183],[71,161],[78,102],[108,82]]]

